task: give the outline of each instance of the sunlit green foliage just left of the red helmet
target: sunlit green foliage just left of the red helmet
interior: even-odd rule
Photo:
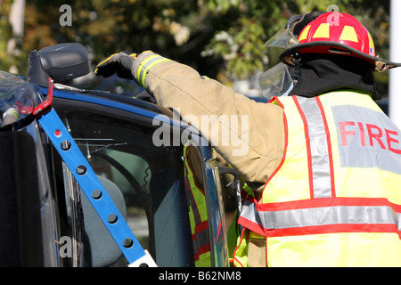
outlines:
[[[264,47],[266,39],[282,28],[287,19],[282,17],[282,12],[285,12],[282,1],[236,1],[229,7],[225,6],[223,16],[230,10],[236,11],[238,17],[225,33],[217,31],[205,51],[225,59],[229,76],[243,79],[264,69],[264,63],[268,62]]]

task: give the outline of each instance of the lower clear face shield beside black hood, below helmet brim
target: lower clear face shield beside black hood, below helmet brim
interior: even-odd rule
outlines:
[[[262,95],[270,100],[274,96],[282,96],[291,90],[292,68],[280,62],[273,68],[267,69],[258,79]]]

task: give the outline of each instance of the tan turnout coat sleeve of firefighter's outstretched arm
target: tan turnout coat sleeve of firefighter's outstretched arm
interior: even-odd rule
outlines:
[[[203,78],[196,70],[176,61],[145,67],[145,59],[154,54],[138,56],[132,70],[135,79],[144,83],[141,85],[158,104],[178,110],[187,123],[201,130],[245,181],[266,183],[282,160],[282,108],[236,94],[232,88]],[[138,69],[145,68],[145,77],[137,78]]]

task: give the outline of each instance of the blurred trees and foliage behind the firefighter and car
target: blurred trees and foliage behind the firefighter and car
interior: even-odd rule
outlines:
[[[24,76],[29,51],[78,42],[93,67],[111,53],[151,50],[258,97],[258,74],[278,61],[266,40],[292,15],[330,5],[360,20],[376,53],[389,59],[389,0],[0,0],[0,69]],[[376,81],[386,97],[389,72],[376,73]],[[130,88],[93,75],[84,83],[118,93]]]

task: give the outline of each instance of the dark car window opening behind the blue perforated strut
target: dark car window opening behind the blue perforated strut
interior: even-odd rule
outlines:
[[[113,185],[106,190],[116,198],[116,205],[123,206],[121,214],[157,264],[193,266],[182,148],[156,146],[153,127],[120,118],[114,110],[109,114],[109,109],[55,109],[96,175]],[[107,232],[104,226],[94,226],[96,214],[89,212],[85,195],[81,199],[88,240],[84,247],[86,265],[109,266],[118,262],[119,259],[111,260],[119,258],[111,248],[115,243],[102,233]]]

